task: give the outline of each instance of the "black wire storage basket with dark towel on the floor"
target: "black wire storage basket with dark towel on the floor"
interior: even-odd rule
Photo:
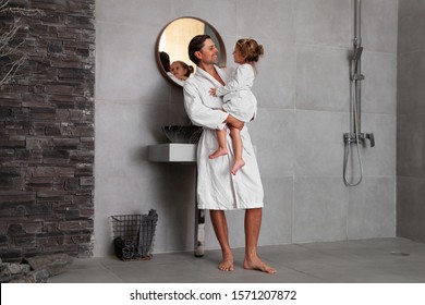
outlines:
[[[122,260],[150,259],[157,221],[154,209],[148,215],[111,216],[116,255]]]

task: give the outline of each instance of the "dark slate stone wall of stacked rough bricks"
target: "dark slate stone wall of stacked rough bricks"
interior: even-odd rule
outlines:
[[[95,0],[10,5],[45,15],[21,16],[28,59],[0,88],[0,258],[92,256]],[[0,15],[2,32],[15,17]]]

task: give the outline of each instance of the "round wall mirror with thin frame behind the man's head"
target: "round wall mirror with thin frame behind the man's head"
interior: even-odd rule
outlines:
[[[196,35],[209,35],[219,50],[219,65],[226,65],[224,44],[218,32],[207,22],[196,17],[180,17],[167,24],[158,36],[155,47],[156,61],[161,74],[171,84],[183,86],[191,72],[196,72],[196,65],[189,59],[187,46]],[[190,72],[184,75],[177,71]],[[173,71],[175,75],[173,74]],[[184,73],[183,73],[184,74]]]

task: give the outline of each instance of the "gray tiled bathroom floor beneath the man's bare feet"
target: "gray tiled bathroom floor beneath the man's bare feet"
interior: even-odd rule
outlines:
[[[151,260],[116,257],[75,259],[50,283],[425,283],[425,244],[405,239],[372,239],[259,247],[276,274],[242,268],[243,248],[234,249],[235,270],[217,269],[219,251],[156,254]]]

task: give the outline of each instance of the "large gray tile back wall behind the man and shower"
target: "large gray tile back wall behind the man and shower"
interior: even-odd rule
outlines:
[[[181,90],[154,58],[162,27],[187,15],[218,29],[228,65],[236,39],[265,47],[250,124],[265,187],[259,244],[394,236],[398,1],[363,2],[362,125],[376,147],[362,148],[365,178],[348,188],[352,0],[96,1],[95,255],[111,252],[110,215],[150,208],[159,213],[156,252],[193,248],[194,168],[146,159],[148,145],[166,142],[161,125],[187,123]],[[243,212],[228,220],[232,245],[243,246]],[[206,247],[218,247],[209,218]]]

